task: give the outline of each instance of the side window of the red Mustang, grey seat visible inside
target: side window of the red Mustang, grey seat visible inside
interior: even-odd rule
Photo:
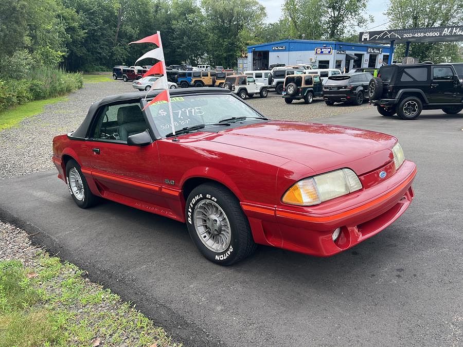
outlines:
[[[94,126],[94,139],[117,142],[127,142],[130,135],[147,129],[138,102],[103,106]]]

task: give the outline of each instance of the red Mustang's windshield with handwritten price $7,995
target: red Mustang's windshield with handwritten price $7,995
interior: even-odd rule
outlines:
[[[195,95],[172,97],[175,130],[199,124],[213,124],[224,118],[263,118],[250,106],[231,95]],[[172,132],[169,106],[165,101],[150,105],[150,112],[161,137]]]

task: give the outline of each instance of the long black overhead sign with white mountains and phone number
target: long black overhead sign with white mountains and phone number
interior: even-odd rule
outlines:
[[[359,42],[362,43],[390,44],[391,41],[395,43],[463,41],[463,26],[388,29],[359,33]]]

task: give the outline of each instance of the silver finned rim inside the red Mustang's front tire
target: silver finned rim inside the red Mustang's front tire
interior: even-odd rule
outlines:
[[[222,208],[211,200],[194,207],[193,223],[201,242],[213,252],[225,251],[231,242],[228,218]]]

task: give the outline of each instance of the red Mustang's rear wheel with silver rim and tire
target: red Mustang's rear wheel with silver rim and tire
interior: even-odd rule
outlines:
[[[95,205],[97,197],[88,187],[87,180],[74,159],[66,163],[66,184],[77,206],[88,208]]]

